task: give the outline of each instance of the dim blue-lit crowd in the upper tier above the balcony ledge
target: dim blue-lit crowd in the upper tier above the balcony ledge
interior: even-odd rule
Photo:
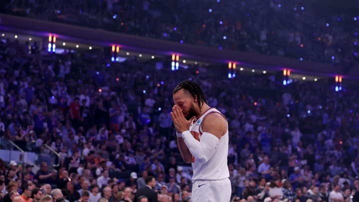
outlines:
[[[334,7],[328,6],[330,3],[323,0],[199,0],[196,3],[190,0],[10,0],[2,10],[179,43],[358,66],[358,5],[355,0]]]

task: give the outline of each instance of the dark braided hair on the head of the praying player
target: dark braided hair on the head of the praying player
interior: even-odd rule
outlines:
[[[203,104],[207,101],[204,97],[202,88],[194,81],[184,80],[180,82],[173,91],[173,94],[177,93],[180,89],[183,89],[191,94],[193,98],[197,97],[199,109],[202,108]]]

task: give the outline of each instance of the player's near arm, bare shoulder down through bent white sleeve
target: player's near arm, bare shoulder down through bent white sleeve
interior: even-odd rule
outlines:
[[[202,130],[199,142],[189,131],[182,132],[182,137],[194,159],[207,162],[217,149],[219,139],[227,131],[227,122],[221,114],[211,113],[202,121]]]

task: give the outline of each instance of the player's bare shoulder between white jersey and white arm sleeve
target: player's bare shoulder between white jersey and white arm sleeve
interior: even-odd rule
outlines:
[[[202,130],[220,139],[227,132],[227,120],[220,113],[210,113],[202,121]]]

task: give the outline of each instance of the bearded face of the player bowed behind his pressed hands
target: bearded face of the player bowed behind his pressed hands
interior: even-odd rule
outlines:
[[[175,104],[182,109],[183,115],[187,120],[196,116],[196,99],[194,99],[188,92],[184,92],[183,89],[180,89],[173,95],[173,99]]]

